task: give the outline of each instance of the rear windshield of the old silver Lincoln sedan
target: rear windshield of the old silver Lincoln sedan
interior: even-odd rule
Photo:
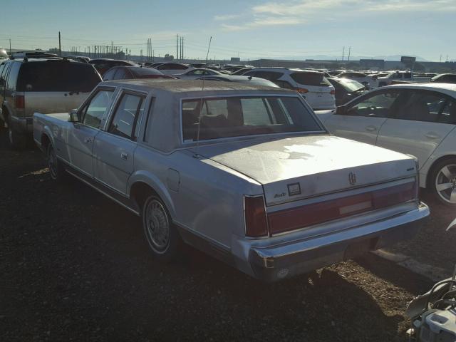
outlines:
[[[200,124],[199,124],[200,123]],[[185,141],[291,132],[322,132],[297,97],[235,97],[182,101]]]

